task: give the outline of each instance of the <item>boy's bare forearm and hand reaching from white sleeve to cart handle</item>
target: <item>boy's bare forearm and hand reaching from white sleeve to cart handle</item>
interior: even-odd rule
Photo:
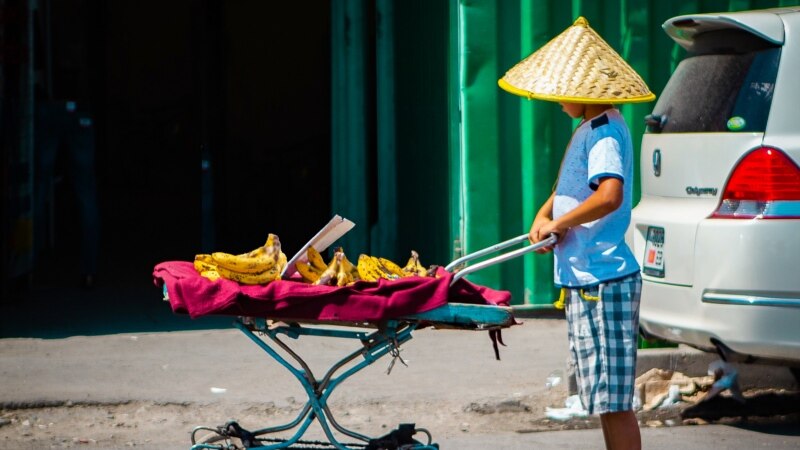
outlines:
[[[601,178],[597,190],[583,203],[558,219],[543,223],[542,226],[536,230],[537,242],[545,239],[551,233],[563,236],[567,230],[574,226],[595,221],[616,211],[622,204],[622,195],[622,180],[614,177]],[[552,199],[553,197],[551,196],[550,200],[548,200],[551,208],[551,217]],[[537,220],[539,220],[538,215]],[[536,221],[534,221],[534,225],[535,224]],[[531,233],[533,233],[533,231],[533,228],[531,228]]]

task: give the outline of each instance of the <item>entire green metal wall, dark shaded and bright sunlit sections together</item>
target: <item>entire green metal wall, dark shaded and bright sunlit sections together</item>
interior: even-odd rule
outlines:
[[[574,123],[497,80],[578,16],[658,95],[683,56],[661,30],[668,18],[798,3],[332,0],[332,212],[357,223],[345,251],[404,262],[415,249],[426,265],[446,264],[528,231]],[[637,147],[652,106],[620,107]],[[548,306],[556,295],[551,256],[470,279],[518,304]]]

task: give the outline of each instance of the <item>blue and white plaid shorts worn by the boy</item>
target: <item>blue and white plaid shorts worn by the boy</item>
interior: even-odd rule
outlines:
[[[589,414],[632,410],[641,275],[567,292],[569,349],[583,407]]]

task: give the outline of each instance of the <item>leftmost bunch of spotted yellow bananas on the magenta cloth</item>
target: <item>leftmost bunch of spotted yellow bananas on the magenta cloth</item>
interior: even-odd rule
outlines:
[[[278,236],[270,234],[267,242],[253,251],[233,255],[214,252],[195,256],[194,267],[200,275],[216,280],[219,277],[241,284],[266,284],[280,279],[286,266]]]

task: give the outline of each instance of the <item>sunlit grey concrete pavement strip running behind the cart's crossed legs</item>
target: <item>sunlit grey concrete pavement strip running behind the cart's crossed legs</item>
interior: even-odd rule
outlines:
[[[390,359],[384,358],[343,383],[341,394],[355,400],[376,392],[468,398],[478,386],[480,397],[505,398],[514,392],[543,395],[548,375],[563,373],[565,336],[563,320],[524,319],[523,325],[504,331],[508,346],[500,348],[502,360],[495,361],[487,333],[418,330],[402,347],[409,367],[397,364],[387,376]],[[306,336],[289,341],[312,370],[318,368],[318,377],[332,362],[356,349],[353,342],[342,339]],[[682,347],[643,349],[637,371],[658,367],[704,375],[714,359],[714,355]],[[785,369],[739,367],[744,388],[794,383]],[[304,395],[282,366],[235,329],[6,338],[0,340],[0,377],[4,384],[0,403],[5,404],[237,402],[285,399],[290,396],[287,392],[297,398]],[[447,389],[440,380],[447,380]],[[211,387],[226,393],[213,394]]]

